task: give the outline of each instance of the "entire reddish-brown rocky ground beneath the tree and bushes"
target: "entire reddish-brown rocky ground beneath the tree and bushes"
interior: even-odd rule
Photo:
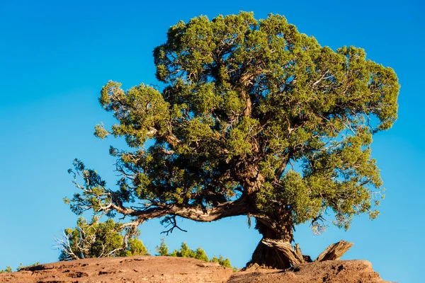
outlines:
[[[288,270],[251,268],[232,272],[230,268],[193,258],[135,256],[91,258],[27,267],[0,274],[0,282],[101,283],[101,282],[344,282],[384,283],[370,262],[334,260],[295,265]]]

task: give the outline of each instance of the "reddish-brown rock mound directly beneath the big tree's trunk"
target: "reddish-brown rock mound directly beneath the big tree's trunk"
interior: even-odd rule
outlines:
[[[367,260],[329,260],[294,265],[288,270],[246,270],[237,272],[228,283],[384,283]]]

